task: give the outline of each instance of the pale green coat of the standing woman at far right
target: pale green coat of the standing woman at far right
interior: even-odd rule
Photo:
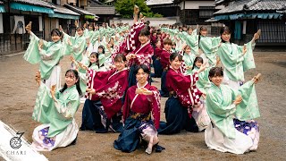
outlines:
[[[223,43],[218,48],[217,54],[220,56],[224,66],[224,73],[230,80],[244,80],[244,72],[255,68],[253,57],[253,48],[255,44],[248,42],[246,44],[247,53],[242,55],[243,46],[238,46],[229,42]]]

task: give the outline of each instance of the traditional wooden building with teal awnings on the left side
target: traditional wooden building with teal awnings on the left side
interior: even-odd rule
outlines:
[[[51,30],[59,28],[59,25],[72,34],[75,20],[80,20],[83,24],[97,17],[83,9],[87,4],[87,0],[0,0],[0,55],[28,47],[29,34],[25,26],[29,21],[32,21],[32,31],[38,38],[50,40]]]

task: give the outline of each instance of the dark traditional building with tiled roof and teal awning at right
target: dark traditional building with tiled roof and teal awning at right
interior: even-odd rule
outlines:
[[[214,13],[214,19],[229,26],[240,44],[260,29],[258,45],[286,45],[285,0],[216,0],[214,4],[225,5]]]

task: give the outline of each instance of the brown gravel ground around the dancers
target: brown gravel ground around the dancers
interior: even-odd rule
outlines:
[[[246,72],[250,80],[258,72],[262,80],[257,84],[257,98],[261,117],[260,142],[257,151],[244,155],[233,155],[210,150],[206,147],[204,132],[181,131],[175,135],[160,135],[160,145],[166,148],[162,153],[146,155],[145,149],[122,153],[113,148],[118,133],[97,134],[80,131],[75,146],[57,148],[43,152],[49,160],[284,160],[286,158],[286,52],[255,52],[257,68]],[[61,62],[62,74],[69,68],[68,57]],[[39,125],[31,118],[35,104],[37,85],[34,80],[38,65],[28,64],[22,55],[0,58],[0,120],[24,131],[24,137],[32,141],[33,129]],[[153,83],[160,89],[159,79]],[[161,120],[164,120],[162,98]],[[82,104],[75,115],[81,123]],[[1,138],[1,137],[0,137]],[[0,157],[1,160],[1,157]]]

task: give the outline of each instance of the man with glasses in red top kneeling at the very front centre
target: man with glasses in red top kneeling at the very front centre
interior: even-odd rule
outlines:
[[[160,95],[156,87],[148,84],[150,71],[145,64],[140,64],[134,70],[137,85],[127,90],[123,106],[123,131],[114,141],[114,148],[123,152],[131,152],[139,147],[140,140],[148,142],[147,154],[158,143],[156,129],[160,122]],[[153,114],[154,120],[151,120]],[[155,125],[155,126],[154,126]],[[162,147],[156,145],[156,150]],[[159,149],[161,148],[161,149]]]

